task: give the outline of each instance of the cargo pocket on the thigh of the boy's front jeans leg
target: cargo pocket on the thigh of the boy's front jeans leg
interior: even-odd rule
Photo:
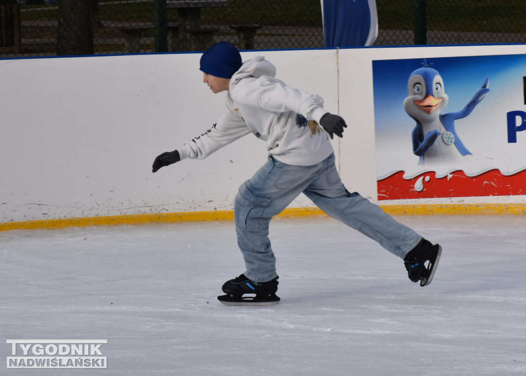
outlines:
[[[270,205],[270,198],[257,194],[247,182],[239,187],[235,202],[236,226],[248,232],[259,231],[259,221]]]

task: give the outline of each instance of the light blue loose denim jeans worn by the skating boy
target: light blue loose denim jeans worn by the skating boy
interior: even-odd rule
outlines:
[[[269,223],[301,192],[329,216],[401,258],[422,239],[378,205],[350,193],[336,170],[334,154],[313,166],[287,165],[270,157],[239,187],[234,202],[237,241],[245,258],[245,276],[252,281],[266,282],[277,276]]]

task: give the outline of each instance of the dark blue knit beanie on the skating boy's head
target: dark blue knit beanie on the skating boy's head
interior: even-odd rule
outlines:
[[[219,42],[203,53],[199,70],[215,77],[231,78],[241,64],[237,48],[231,43]]]

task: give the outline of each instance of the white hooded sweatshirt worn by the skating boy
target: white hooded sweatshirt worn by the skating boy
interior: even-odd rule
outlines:
[[[275,78],[276,67],[262,56],[245,62],[230,79],[217,124],[185,140],[181,160],[203,159],[249,133],[267,143],[269,155],[296,166],[315,165],[332,152],[329,135],[319,126],[327,113],[323,99],[288,87]]]

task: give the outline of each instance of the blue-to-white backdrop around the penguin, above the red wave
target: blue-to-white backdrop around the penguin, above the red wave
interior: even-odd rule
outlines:
[[[408,176],[421,171],[417,166],[418,157],[412,154],[411,133],[416,122],[404,110],[403,101],[408,96],[409,76],[413,70],[422,67],[424,58],[426,56],[372,62],[378,178],[399,170],[406,171]],[[526,132],[518,132],[518,144],[509,144],[507,139],[508,111],[526,110],[523,92],[526,55],[426,60],[443,78],[444,91],[449,96],[442,114],[460,111],[481,88],[484,78],[489,76],[490,92],[469,116],[455,123],[459,137],[473,154],[473,160],[469,166],[444,166],[442,172],[458,167],[473,174],[490,168],[510,173],[526,166],[526,148],[523,146]]]

